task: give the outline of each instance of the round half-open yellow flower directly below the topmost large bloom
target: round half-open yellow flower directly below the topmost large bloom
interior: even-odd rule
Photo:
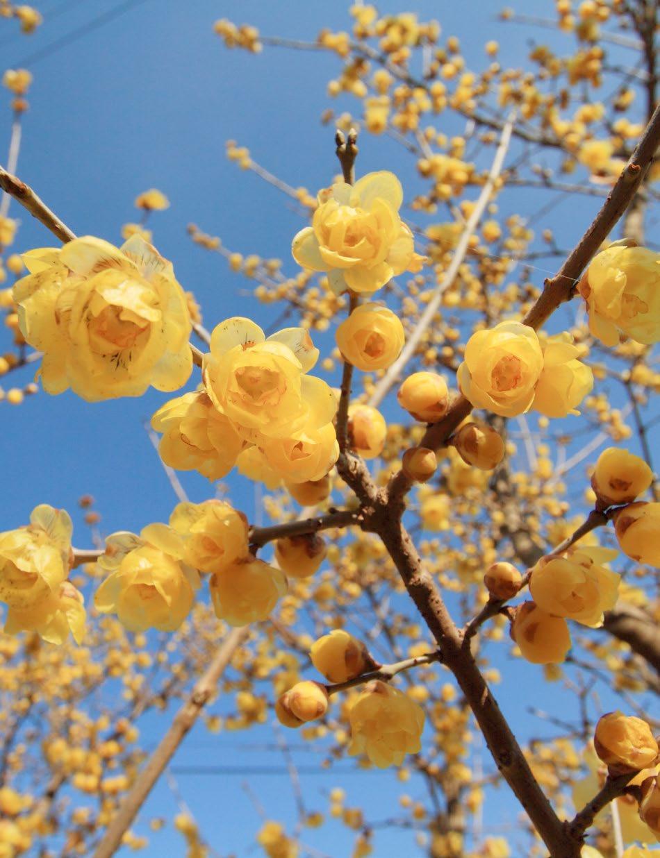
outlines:
[[[356,307],[336,330],[336,344],[343,359],[364,372],[391,366],[404,341],[399,317],[373,303]]]

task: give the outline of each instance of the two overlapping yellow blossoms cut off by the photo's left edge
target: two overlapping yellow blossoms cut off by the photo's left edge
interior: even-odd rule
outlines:
[[[0,601],[7,605],[4,631],[37,631],[51,644],[85,633],[82,594],[67,580],[71,565],[71,519],[42,504],[30,523],[0,534]]]

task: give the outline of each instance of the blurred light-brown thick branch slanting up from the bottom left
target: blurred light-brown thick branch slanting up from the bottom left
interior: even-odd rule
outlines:
[[[159,746],[136,777],[130,793],[119,807],[117,815],[112,819],[105,836],[94,852],[94,858],[112,858],[112,855],[115,854],[122,843],[124,834],[147,800],[154,783],[166,769],[186,734],[197,721],[197,717],[204,706],[213,696],[218,680],[220,680],[233,654],[245,641],[247,635],[248,630],[243,628],[233,629],[226,637],[209,664],[206,673],[197,681],[190,697],[174,716],[172,726],[167,730],[167,733],[160,740]]]

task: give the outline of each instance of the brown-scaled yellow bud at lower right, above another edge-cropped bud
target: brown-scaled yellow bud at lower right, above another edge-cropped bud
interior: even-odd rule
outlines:
[[[653,765],[658,746],[651,728],[641,718],[608,712],[596,724],[596,753],[612,774],[639,771]]]

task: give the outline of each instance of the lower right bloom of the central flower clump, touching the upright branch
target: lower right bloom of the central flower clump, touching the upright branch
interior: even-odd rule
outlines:
[[[303,429],[290,438],[263,438],[260,445],[269,466],[294,483],[320,480],[339,457],[331,423]]]

